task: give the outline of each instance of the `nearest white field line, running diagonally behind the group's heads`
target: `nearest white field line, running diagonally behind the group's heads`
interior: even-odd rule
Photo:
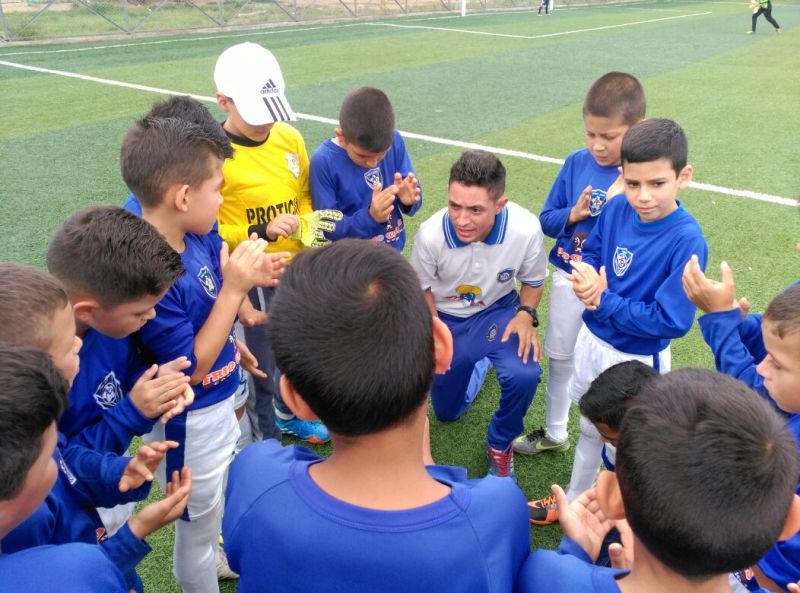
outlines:
[[[198,101],[205,101],[207,103],[215,103],[214,97],[208,97],[206,95],[196,95],[192,93],[182,93],[179,91],[173,91],[169,89],[162,89],[153,86],[147,86],[143,84],[134,84],[131,82],[123,82],[120,80],[110,80],[108,78],[98,78],[96,76],[87,76],[85,74],[78,74],[75,72],[65,72],[63,70],[52,70],[50,68],[41,68],[39,66],[29,66],[27,64],[17,64],[15,62],[7,62],[5,60],[0,60],[0,66],[7,66],[9,68],[18,68],[20,70],[28,70],[31,72],[39,72],[41,74],[52,74],[54,76],[63,76],[65,78],[75,78],[77,80],[84,80],[87,82],[95,82],[99,84],[105,84],[109,86],[116,86],[120,88],[126,89],[133,89],[137,91],[145,91],[149,93],[158,93],[160,95],[188,95],[197,99]],[[305,113],[296,113],[298,119],[306,120],[306,121],[313,121],[318,122],[326,125],[336,126],[339,122],[335,119],[331,119],[329,117],[322,117],[319,115],[309,115]],[[542,156],[538,154],[532,154],[529,152],[522,152],[519,150],[510,150],[507,148],[500,148],[497,146],[486,146],[483,144],[475,144],[473,142],[462,142],[460,140],[450,140],[448,138],[440,138],[438,136],[428,136],[427,134],[417,134],[415,132],[404,132],[400,131],[400,133],[406,138],[413,138],[415,140],[421,140],[423,142],[430,142],[433,144],[442,144],[444,146],[453,146],[456,148],[465,148],[468,150],[487,150],[489,152],[493,152],[495,154],[503,155],[503,156],[510,156],[514,158],[521,158],[526,159],[529,161],[538,161],[541,163],[550,163],[553,165],[563,165],[564,159],[557,159],[548,156]],[[723,194],[728,196],[735,196],[739,198],[746,198],[750,200],[758,200],[760,202],[768,202],[771,204],[780,204],[783,206],[798,206],[800,204],[797,200],[792,198],[783,198],[781,196],[773,196],[770,194],[764,194],[760,192],[754,192],[750,190],[744,189],[731,189],[727,187],[721,187],[719,185],[711,185],[708,183],[699,183],[692,181],[689,184],[690,187],[694,189],[699,189],[702,191],[708,191],[716,194]]]

